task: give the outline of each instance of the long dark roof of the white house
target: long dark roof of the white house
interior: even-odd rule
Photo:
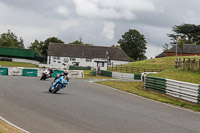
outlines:
[[[75,44],[50,43],[48,56],[75,57],[75,58],[106,58],[128,61],[129,57],[118,47],[85,46]]]

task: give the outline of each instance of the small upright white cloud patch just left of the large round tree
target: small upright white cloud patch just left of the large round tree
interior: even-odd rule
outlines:
[[[111,21],[104,22],[103,33],[109,40],[112,40],[114,38],[114,33],[115,33],[114,28],[115,28],[115,23]]]

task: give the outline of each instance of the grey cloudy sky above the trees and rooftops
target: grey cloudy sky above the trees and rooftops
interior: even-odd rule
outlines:
[[[154,58],[174,25],[199,25],[199,6],[199,0],[0,0],[0,34],[10,29],[25,47],[53,36],[111,46],[136,29],[146,38],[146,56]]]

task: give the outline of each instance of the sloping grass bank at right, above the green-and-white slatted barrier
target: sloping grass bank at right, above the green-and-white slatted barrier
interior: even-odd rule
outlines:
[[[178,56],[178,58],[194,58],[193,56]],[[149,74],[150,76],[162,77],[168,79],[174,79],[178,81],[184,81],[189,83],[200,84],[200,72],[198,71],[187,71],[175,69],[175,56],[163,57],[156,59],[149,59],[144,61],[131,62],[124,64],[125,66],[133,66],[138,68],[145,69],[163,69],[162,72],[157,74]],[[197,56],[196,59],[200,59],[200,56]]]

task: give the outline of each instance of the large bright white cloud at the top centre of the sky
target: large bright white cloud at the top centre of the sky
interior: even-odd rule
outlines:
[[[134,20],[134,11],[155,11],[147,0],[74,0],[76,12],[82,17]]]

